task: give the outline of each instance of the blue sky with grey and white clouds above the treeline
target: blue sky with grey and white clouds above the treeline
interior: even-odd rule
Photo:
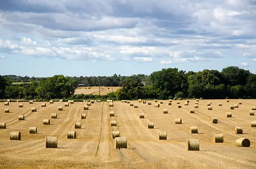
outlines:
[[[256,0],[0,0],[0,75],[255,65]]]

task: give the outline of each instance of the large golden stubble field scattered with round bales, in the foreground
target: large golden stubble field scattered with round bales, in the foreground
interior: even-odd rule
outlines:
[[[92,102],[1,103],[0,168],[256,168],[256,100]]]

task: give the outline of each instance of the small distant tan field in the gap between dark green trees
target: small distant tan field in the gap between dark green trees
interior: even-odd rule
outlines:
[[[103,88],[103,89],[102,89]],[[113,87],[113,92],[117,91],[120,87]],[[100,87],[100,95],[106,95],[112,92],[112,87]],[[88,87],[77,88],[74,94],[95,94],[99,95],[99,86],[93,86],[91,89]]]

